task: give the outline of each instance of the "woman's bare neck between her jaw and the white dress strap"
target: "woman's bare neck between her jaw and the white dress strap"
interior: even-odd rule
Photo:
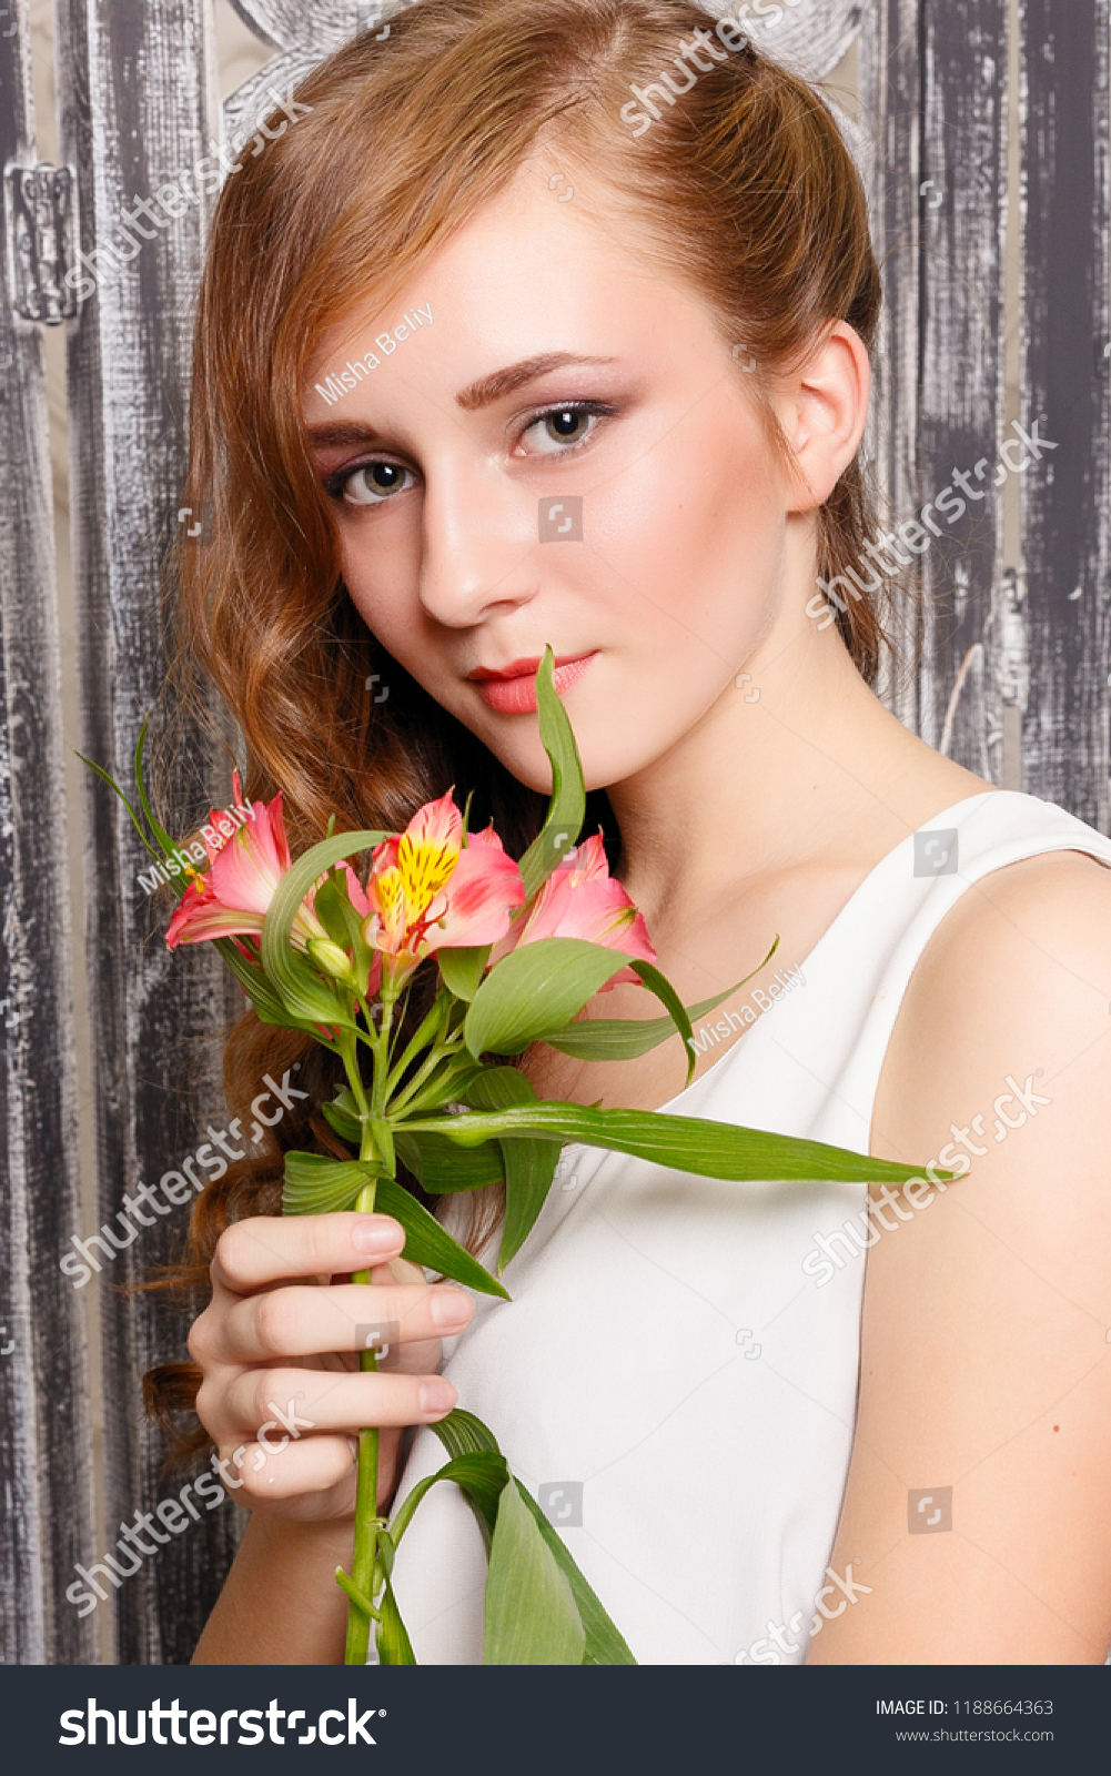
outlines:
[[[609,787],[621,881],[650,929],[697,922],[790,868],[871,867],[919,819],[987,787],[884,709],[836,629],[774,632],[747,668],[678,744]]]

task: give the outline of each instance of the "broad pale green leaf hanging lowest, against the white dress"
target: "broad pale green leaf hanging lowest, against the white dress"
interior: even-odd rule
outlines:
[[[582,1664],[584,1650],[575,1593],[520,1490],[506,1487],[486,1574],[483,1664]]]

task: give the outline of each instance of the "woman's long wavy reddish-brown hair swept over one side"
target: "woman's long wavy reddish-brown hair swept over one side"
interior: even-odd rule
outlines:
[[[776,371],[832,320],[873,339],[880,279],[864,194],[818,92],[747,46],[699,73],[639,137],[621,121],[632,87],[658,82],[699,21],[713,27],[690,0],[417,0],[390,16],[389,37],[364,34],[321,62],[295,94],[311,108],[227,178],[190,403],[185,497],[206,529],[179,552],[183,650],[170,694],[202,714],[206,682],[217,687],[243,737],[248,792],[282,790],[295,852],[325,835],[332,813],[339,829],[398,829],[453,783],[474,796],[472,824],[493,819],[511,854],[543,812],[543,797],[385,654],[348,597],[300,407],[328,329],[371,298],[392,300],[527,155],[557,142],[563,163],[589,165],[634,206],[660,266],[701,293],[722,337],[742,329],[756,359],[745,387],[776,448],[786,448],[767,401]],[[843,574],[871,529],[854,462],[816,513],[815,570]],[[838,625],[873,682],[882,630],[868,599]],[[367,689],[373,673],[389,684],[385,702]],[[616,861],[605,794],[587,819]],[[410,1019],[422,1009],[414,993]],[[312,1103],[332,1096],[327,1051],[247,1014],[225,1051],[232,1108],[293,1060]],[[268,1138],[266,1154],[195,1202],[188,1261],[169,1279],[192,1305],[227,1222],[277,1213],[284,1151],[343,1151],[312,1110]],[[472,1227],[474,1243],[488,1224]],[[192,1408],[197,1385],[193,1366],[163,1366],[147,1376],[147,1403],[167,1423]],[[193,1419],[185,1444],[204,1440]]]

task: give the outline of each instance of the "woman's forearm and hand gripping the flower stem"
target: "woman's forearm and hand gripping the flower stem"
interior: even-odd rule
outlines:
[[[195,1664],[341,1664],[355,1433],[380,1426],[378,1506],[398,1483],[401,1431],[456,1401],[440,1336],[474,1314],[463,1289],[401,1259],[387,1215],[256,1217],[217,1245],[213,1298],[190,1332],[201,1423],[236,1502],[252,1513]],[[312,1279],[371,1270],[371,1284]],[[399,1364],[355,1368],[369,1327],[399,1328]],[[346,1353],[335,1355],[335,1353]],[[284,1433],[279,1426],[286,1426]]]

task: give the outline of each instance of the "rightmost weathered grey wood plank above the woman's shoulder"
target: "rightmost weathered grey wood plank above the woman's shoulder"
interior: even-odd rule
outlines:
[[[1107,831],[1107,0],[1022,7],[1024,787]]]

